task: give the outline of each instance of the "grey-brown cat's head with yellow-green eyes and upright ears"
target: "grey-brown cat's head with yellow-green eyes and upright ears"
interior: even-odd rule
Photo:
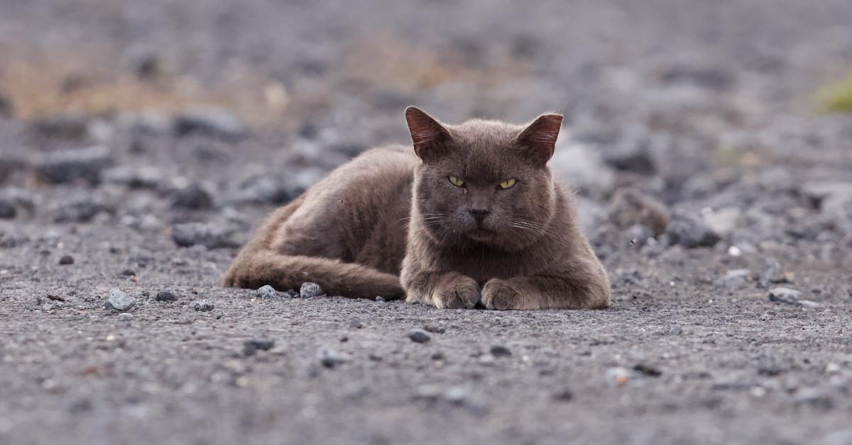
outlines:
[[[547,236],[556,201],[547,162],[561,115],[544,114],[527,125],[445,125],[411,106],[406,120],[423,161],[414,205],[429,237],[443,245],[515,250]]]

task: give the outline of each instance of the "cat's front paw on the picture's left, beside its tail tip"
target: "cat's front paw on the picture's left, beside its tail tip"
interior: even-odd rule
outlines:
[[[406,274],[404,280],[407,301],[439,309],[473,309],[480,300],[476,280],[458,272],[423,271]]]

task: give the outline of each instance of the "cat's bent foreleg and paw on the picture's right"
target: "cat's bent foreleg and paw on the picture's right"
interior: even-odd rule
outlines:
[[[603,309],[609,306],[606,272],[492,278],[482,287],[486,309]]]

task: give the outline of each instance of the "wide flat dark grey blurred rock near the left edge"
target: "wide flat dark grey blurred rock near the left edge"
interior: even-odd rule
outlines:
[[[101,183],[101,172],[112,165],[112,155],[107,149],[95,145],[85,149],[54,151],[37,163],[35,171],[40,180],[49,184],[86,182]]]

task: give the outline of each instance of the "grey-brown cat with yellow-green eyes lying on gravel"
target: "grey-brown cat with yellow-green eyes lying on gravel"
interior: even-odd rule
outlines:
[[[562,117],[446,125],[406,108],[412,146],[365,151],[279,208],[224,285],[405,297],[438,308],[601,309],[607,271],[547,166]]]

